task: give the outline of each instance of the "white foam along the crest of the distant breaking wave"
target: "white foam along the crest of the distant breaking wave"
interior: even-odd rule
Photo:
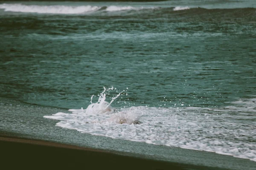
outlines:
[[[133,6],[39,6],[39,5],[23,5],[19,3],[0,4],[0,9],[11,12],[22,13],[38,13],[38,14],[84,14],[94,11],[128,11],[128,10],[142,10],[142,9],[161,9],[160,7],[133,7]],[[188,6],[177,6],[170,8],[173,11],[180,11],[189,9]]]

